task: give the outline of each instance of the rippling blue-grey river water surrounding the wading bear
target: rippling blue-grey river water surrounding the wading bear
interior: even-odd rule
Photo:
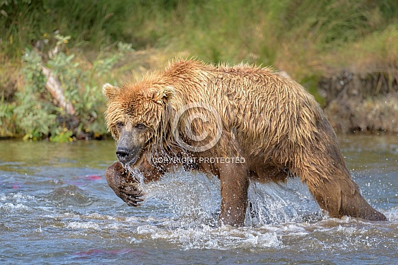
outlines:
[[[0,141],[0,264],[397,264],[398,136],[340,136],[388,222],[329,218],[299,180],[251,185],[257,214],[218,227],[219,181],[179,171],[129,207],[104,177],[114,142]]]

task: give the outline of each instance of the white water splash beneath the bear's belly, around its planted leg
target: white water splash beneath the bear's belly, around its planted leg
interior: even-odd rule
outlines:
[[[220,181],[202,173],[179,171],[142,188],[147,201],[166,203],[184,225],[217,225],[221,204]],[[323,218],[319,205],[299,179],[287,184],[250,182],[245,225],[283,222],[314,223]]]

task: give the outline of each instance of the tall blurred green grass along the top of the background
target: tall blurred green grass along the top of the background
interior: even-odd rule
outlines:
[[[330,51],[398,23],[395,0],[8,0],[0,11],[1,53],[17,58],[59,31],[72,47],[122,41],[212,62],[277,64],[286,51]]]

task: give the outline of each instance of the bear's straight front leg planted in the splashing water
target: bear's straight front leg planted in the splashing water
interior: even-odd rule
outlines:
[[[245,224],[249,170],[245,164],[217,165],[221,181],[221,225],[240,227]]]

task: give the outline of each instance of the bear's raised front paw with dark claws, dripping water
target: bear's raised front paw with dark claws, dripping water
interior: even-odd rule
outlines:
[[[119,162],[108,166],[105,171],[105,178],[108,185],[116,195],[129,206],[139,206],[145,194],[138,188],[138,183],[131,176],[131,173],[123,168]]]

